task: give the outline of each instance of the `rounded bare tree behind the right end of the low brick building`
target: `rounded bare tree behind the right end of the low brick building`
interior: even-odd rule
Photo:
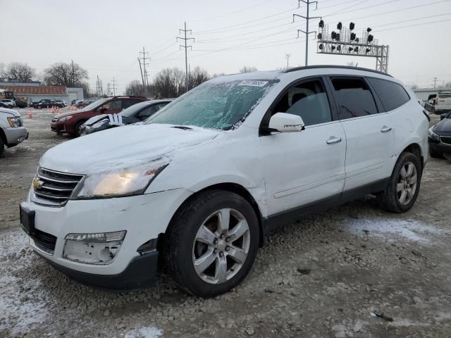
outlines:
[[[79,86],[82,80],[87,80],[87,70],[81,68],[78,63],[54,63],[44,70],[44,81],[50,86]]]

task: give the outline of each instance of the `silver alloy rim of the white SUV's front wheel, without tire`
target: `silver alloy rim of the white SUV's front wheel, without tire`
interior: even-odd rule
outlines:
[[[249,225],[235,209],[223,208],[204,220],[192,246],[192,264],[209,284],[233,278],[244,265],[250,246]]]

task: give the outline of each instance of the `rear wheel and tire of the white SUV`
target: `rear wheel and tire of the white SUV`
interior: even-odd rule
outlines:
[[[421,174],[420,159],[412,153],[402,153],[388,186],[376,196],[379,206],[392,213],[404,213],[412,208],[419,194]]]

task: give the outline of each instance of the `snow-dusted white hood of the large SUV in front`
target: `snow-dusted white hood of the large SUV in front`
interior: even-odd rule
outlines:
[[[63,173],[90,174],[111,168],[132,168],[188,146],[214,139],[220,132],[201,127],[128,125],[88,134],[49,149],[39,165]]]

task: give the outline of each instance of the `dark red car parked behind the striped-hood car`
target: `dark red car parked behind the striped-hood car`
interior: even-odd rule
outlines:
[[[56,134],[80,136],[80,128],[89,118],[100,114],[116,114],[138,102],[147,101],[144,96],[109,96],[89,104],[81,111],[56,115],[50,129]]]

